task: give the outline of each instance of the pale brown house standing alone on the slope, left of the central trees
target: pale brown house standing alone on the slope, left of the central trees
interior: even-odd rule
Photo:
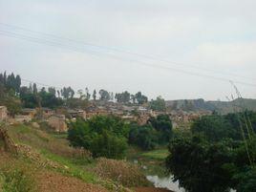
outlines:
[[[48,118],[48,124],[55,132],[67,132],[68,126],[64,115],[53,115]]]

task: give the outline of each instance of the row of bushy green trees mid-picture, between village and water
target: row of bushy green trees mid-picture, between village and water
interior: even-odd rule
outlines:
[[[70,122],[68,139],[75,147],[83,147],[95,158],[121,159],[128,145],[152,150],[166,145],[172,136],[172,122],[168,116],[151,117],[144,125],[126,123],[120,117],[96,116],[88,120],[78,118]]]

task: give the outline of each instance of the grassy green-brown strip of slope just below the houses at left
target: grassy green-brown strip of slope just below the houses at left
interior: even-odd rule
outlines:
[[[77,163],[79,160],[71,158],[72,148],[65,136],[45,132],[24,124],[10,126],[9,134],[16,143],[32,146],[32,149],[35,149],[44,158],[68,167],[67,170],[56,169],[56,171],[86,182],[95,183],[97,181],[96,176],[86,170],[89,166],[88,162]]]

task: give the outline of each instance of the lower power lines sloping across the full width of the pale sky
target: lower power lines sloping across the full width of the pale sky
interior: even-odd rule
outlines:
[[[20,33],[17,33],[17,32],[9,32],[9,31],[3,31],[3,30],[1,31],[0,30],[0,34],[15,37],[15,38],[19,38],[19,39],[23,39],[23,40],[32,41],[32,42],[35,42],[35,43],[41,43],[41,44],[46,44],[46,45],[50,45],[50,46],[55,46],[55,47],[59,47],[59,48],[62,48],[62,49],[68,49],[68,50],[71,50],[71,51],[74,51],[74,52],[77,52],[77,53],[88,53],[88,52],[90,52],[90,55],[95,55],[95,56],[100,56],[100,55],[104,54],[104,53],[98,54],[98,52],[84,49],[84,47],[78,48],[77,46],[75,47],[73,45],[66,45],[65,43],[63,43],[61,41],[58,41],[58,40],[55,41],[55,40],[52,40],[52,39],[49,40],[49,39],[44,39],[44,38],[38,38],[38,37],[30,36],[30,35],[20,34]],[[84,51],[86,51],[86,52],[84,52]],[[123,58],[118,57],[117,55],[110,55],[108,53],[107,56],[118,59],[118,60],[123,60]],[[160,65],[156,66],[152,63],[148,63],[148,62],[144,62],[144,61],[140,61],[140,60],[136,60],[136,59],[125,59],[125,60],[126,61],[128,60],[130,62],[137,62],[137,63],[140,63],[140,64],[142,64],[144,66],[147,66],[147,67],[153,67],[153,68],[157,68],[157,69],[164,69],[164,70],[168,70],[168,71],[171,71],[171,72],[176,71],[176,72],[180,72],[182,74],[187,74],[187,75],[203,76],[203,77],[214,78],[214,79],[218,79],[218,80],[222,80],[222,81],[228,81],[228,82],[230,81],[230,79],[224,78],[224,77],[216,77],[214,75],[205,75],[205,74],[201,74],[201,73],[188,72],[188,71],[177,69],[177,68],[171,68],[169,66],[168,67],[167,66],[160,66]],[[248,86],[256,86],[255,84],[247,83],[247,82],[244,82],[244,81],[233,80],[233,82],[248,85]]]

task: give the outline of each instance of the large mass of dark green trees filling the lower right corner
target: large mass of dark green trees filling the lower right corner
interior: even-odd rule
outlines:
[[[167,170],[188,192],[223,192],[256,188],[256,113],[202,117],[192,134],[174,137]]]

